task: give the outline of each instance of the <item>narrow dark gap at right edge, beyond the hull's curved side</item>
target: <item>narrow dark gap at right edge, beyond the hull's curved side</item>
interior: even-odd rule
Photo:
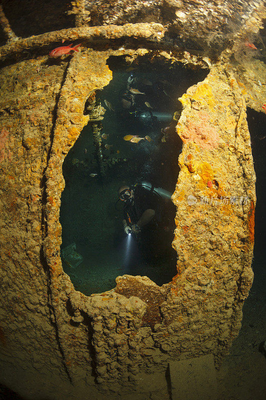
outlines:
[[[265,312],[266,312],[266,268],[265,268],[265,236],[266,236],[266,114],[247,108],[247,121],[251,134],[251,146],[256,172],[256,210],[255,210],[255,243],[252,268],[254,281],[248,298],[243,305],[242,327],[238,338],[234,341],[232,355],[241,355],[251,362],[252,371],[261,370],[261,360],[258,358],[265,342]],[[265,362],[265,360],[263,360]],[[258,372],[252,375],[253,382]],[[265,386],[263,386],[265,387]],[[260,398],[261,385],[257,384],[256,398]],[[257,392],[258,391],[258,392]],[[254,390],[253,390],[254,392]]]

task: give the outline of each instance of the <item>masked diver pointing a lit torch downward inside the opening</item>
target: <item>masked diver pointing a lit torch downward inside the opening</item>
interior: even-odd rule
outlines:
[[[172,194],[143,181],[134,186],[120,186],[118,196],[119,200],[125,202],[122,221],[124,232],[138,235],[151,221],[161,221],[163,203],[170,200]]]

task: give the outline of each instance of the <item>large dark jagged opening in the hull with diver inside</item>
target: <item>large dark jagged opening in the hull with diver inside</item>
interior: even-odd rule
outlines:
[[[108,65],[113,78],[90,93],[84,110],[90,121],[63,162],[62,264],[75,289],[86,295],[110,290],[118,275],[148,276],[158,285],[176,275],[171,194],[182,149],[175,130],[178,97],[208,74],[159,56],[131,64],[112,56]],[[118,199],[123,185],[134,193],[134,204]],[[148,222],[134,232],[146,210]]]

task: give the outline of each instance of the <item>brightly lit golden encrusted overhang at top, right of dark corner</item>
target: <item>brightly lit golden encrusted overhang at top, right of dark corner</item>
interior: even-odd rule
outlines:
[[[265,16],[262,1],[77,0],[75,4],[78,26],[159,22],[167,28],[169,43],[204,51],[220,51],[240,32],[256,35]]]

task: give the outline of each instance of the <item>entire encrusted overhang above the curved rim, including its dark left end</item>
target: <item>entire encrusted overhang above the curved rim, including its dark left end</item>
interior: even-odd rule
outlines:
[[[156,22],[167,30],[169,45],[205,53],[220,53],[239,37],[253,40],[265,18],[264,2],[259,0],[33,0],[19,4],[21,0],[3,1],[3,10],[19,37],[74,26]],[[4,43],[1,36],[0,43]]]

